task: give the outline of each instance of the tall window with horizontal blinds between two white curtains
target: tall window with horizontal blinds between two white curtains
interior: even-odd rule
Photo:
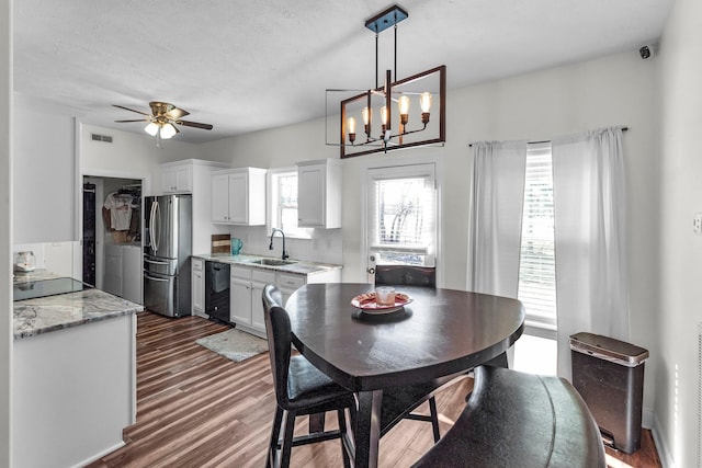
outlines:
[[[553,206],[551,144],[530,144],[526,151],[518,298],[526,308],[528,323],[555,330]]]

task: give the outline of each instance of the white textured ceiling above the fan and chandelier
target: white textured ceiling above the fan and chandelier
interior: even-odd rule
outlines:
[[[407,0],[397,76],[446,65],[449,89],[631,50],[673,0]],[[385,0],[14,0],[14,89],[81,122],[143,132],[112,107],[167,101],[202,142],[324,116],[325,89],[375,84],[364,21]],[[393,33],[380,36],[392,68]]]

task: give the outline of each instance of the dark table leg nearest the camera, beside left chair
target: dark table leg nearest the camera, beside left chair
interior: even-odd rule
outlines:
[[[355,468],[376,468],[381,440],[383,390],[359,392],[356,415]]]

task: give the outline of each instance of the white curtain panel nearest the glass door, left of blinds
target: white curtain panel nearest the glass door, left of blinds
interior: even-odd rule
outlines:
[[[473,144],[466,288],[517,297],[526,141]]]

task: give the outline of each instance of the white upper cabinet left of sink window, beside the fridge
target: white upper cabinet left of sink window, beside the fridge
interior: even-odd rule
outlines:
[[[212,220],[265,225],[265,169],[241,168],[212,174]]]

